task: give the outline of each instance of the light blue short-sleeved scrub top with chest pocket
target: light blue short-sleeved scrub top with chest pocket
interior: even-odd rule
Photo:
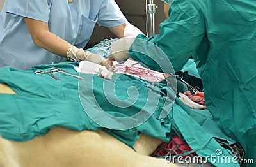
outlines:
[[[64,58],[37,47],[23,17],[49,24],[49,31],[78,48],[84,48],[93,28],[127,22],[114,0],[6,0],[0,15],[0,67],[29,69]]]

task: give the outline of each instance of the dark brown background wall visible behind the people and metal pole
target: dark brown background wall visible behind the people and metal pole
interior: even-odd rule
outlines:
[[[138,27],[146,34],[146,1],[145,0],[116,0],[116,3],[124,13],[125,17],[131,24]],[[158,6],[156,10],[156,34],[159,33],[158,26],[165,20],[163,2],[155,0],[154,3]],[[90,48],[106,38],[116,38],[106,27],[95,26],[92,37],[86,45]]]

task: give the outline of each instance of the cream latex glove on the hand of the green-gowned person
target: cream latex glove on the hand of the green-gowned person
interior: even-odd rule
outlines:
[[[129,59],[130,55],[128,54],[129,48],[132,45],[134,38],[126,37],[120,38],[117,41],[114,41],[111,45],[111,51],[109,55],[109,61],[117,61],[118,63],[124,63]]]

